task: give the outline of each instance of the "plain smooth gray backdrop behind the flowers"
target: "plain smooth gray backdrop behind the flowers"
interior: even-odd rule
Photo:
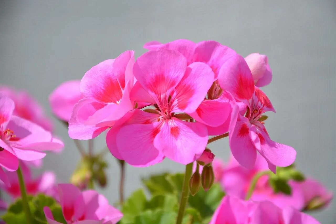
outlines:
[[[263,90],[277,110],[266,121],[270,136],[293,146],[299,169],[336,191],[335,1],[1,1],[0,82],[29,91],[51,116],[48,95],[61,82],[80,79],[125,50],[139,56],[147,41],[180,38],[217,40],[243,56],[267,54],[274,78]],[[54,121],[66,148],[47,155],[43,169],[65,182],[79,153]],[[95,146],[102,149],[104,138]],[[211,149],[227,159],[227,140]],[[119,169],[110,154],[106,157],[111,179],[101,192],[114,202]],[[183,170],[168,159],[143,169],[128,166],[126,195],[140,186],[140,177]],[[312,215],[335,223],[335,204]]]

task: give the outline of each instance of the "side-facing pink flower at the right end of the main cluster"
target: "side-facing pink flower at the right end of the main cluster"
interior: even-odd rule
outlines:
[[[267,96],[254,86],[251,71],[240,55],[228,59],[219,71],[219,85],[236,100],[247,105],[246,115],[238,115],[236,125],[229,130],[229,145],[237,161],[253,168],[257,151],[267,160],[275,173],[276,166],[289,166],[295,160],[295,150],[272,141],[259,118],[264,112],[275,112]]]

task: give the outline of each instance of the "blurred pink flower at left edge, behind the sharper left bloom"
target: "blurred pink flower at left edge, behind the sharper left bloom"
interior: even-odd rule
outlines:
[[[42,106],[25,91],[15,91],[7,86],[0,86],[0,93],[14,101],[13,114],[32,121],[47,131],[52,131],[52,122],[44,114]]]

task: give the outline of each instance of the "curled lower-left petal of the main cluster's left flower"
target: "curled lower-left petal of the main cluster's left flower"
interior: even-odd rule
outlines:
[[[72,139],[81,139],[87,140],[97,137],[100,133],[102,133],[108,127],[96,127],[93,125],[86,125],[79,123],[77,121],[77,113],[82,107],[90,108],[95,101],[92,99],[82,99],[80,100],[74,107],[71,118],[69,120],[69,136]],[[90,104],[90,105],[89,105]],[[85,109],[83,108],[83,111]]]

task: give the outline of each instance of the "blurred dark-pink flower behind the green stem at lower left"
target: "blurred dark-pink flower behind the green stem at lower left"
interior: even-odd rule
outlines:
[[[37,193],[44,193],[49,196],[55,196],[54,186],[56,176],[53,172],[46,171],[38,178],[33,178],[28,166],[20,163],[20,168],[25,181],[27,193],[35,195]],[[15,172],[6,172],[10,186],[0,185],[0,187],[13,198],[20,197],[20,187],[17,175]]]

